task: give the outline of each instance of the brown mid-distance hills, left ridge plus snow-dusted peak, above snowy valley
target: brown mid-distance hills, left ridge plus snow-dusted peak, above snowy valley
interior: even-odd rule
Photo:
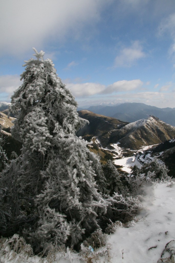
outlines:
[[[79,130],[77,135],[89,140],[92,136],[98,136],[103,147],[119,142],[124,148],[140,149],[144,145],[162,143],[175,136],[175,127],[154,116],[128,124],[88,110],[79,111],[78,114],[90,123]]]

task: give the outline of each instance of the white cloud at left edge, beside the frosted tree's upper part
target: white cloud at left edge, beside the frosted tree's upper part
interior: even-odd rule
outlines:
[[[9,99],[13,95],[14,90],[16,90],[23,81],[20,81],[20,76],[18,75],[3,75],[0,76],[0,95],[6,94],[6,98]]]

